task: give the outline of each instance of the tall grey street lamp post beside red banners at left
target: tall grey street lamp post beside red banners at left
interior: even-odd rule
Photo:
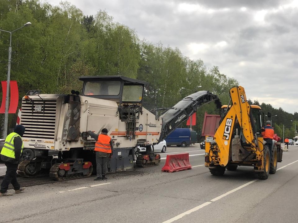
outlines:
[[[10,34],[10,39],[9,39],[9,48],[8,48],[8,65],[7,65],[7,85],[6,85],[6,98],[5,98],[5,115],[4,115],[4,131],[3,131],[3,138],[6,138],[7,136],[7,125],[8,125],[8,107],[9,107],[9,82],[10,82],[10,66],[11,66],[11,34],[13,32],[16,32],[17,30],[24,28],[26,26],[31,25],[30,22],[27,22],[24,24],[22,27],[17,28],[11,32],[2,30],[0,31],[7,32]]]

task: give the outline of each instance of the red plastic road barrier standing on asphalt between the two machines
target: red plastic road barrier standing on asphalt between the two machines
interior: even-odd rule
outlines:
[[[192,166],[189,163],[188,153],[167,155],[165,165],[161,168],[161,172],[177,172],[180,170],[191,169]]]

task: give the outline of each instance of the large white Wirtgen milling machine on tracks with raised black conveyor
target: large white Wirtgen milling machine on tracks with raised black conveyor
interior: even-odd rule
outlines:
[[[215,94],[199,91],[183,98],[158,117],[142,106],[147,82],[123,76],[80,77],[84,81],[82,95],[40,94],[31,90],[22,98],[20,124],[26,127],[23,136],[24,154],[29,160],[20,162],[18,172],[34,176],[49,170],[51,178],[63,180],[90,176],[95,171],[95,140],[87,131],[99,134],[108,129],[114,153],[108,172],[133,170],[160,163],[154,145],[162,141],[183,121]],[[137,152],[137,146],[146,152]]]

